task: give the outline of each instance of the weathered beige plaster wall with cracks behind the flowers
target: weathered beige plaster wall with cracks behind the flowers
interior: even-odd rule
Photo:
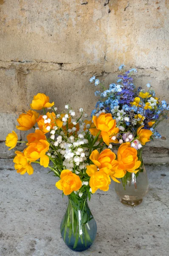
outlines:
[[[90,113],[90,76],[108,85],[122,63],[138,69],[137,86],[151,81],[168,98],[169,0],[0,0],[1,157],[13,155],[3,141],[34,94]],[[168,129],[163,123],[163,140],[149,144],[149,162],[169,161]]]

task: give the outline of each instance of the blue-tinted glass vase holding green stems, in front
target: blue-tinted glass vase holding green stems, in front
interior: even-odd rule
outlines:
[[[87,196],[79,198],[74,194],[68,198],[68,208],[62,218],[60,231],[65,244],[71,250],[81,252],[93,244],[97,225],[87,204]]]

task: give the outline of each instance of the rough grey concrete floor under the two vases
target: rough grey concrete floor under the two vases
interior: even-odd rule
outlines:
[[[0,160],[0,256],[169,256],[169,167],[146,169],[149,192],[138,207],[121,204],[113,182],[93,195],[96,240],[78,253],[60,235],[67,197],[56,189],[56,177],[38,165],[22,176],[12,160]]]

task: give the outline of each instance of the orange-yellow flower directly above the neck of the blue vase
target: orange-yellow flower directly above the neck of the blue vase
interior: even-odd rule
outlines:
[[[79,176],[72,173],[70,170],[63,170],[60,175],[60,180],[56,182],[56,187],[63,190],[65,195],[70,195],[73,191],[77,191],[82,186],[82,181]]]

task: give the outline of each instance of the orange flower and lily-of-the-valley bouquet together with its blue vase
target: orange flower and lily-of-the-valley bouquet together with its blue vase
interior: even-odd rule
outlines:
[[[116,156],[107,148],[116,141],[120,130],[116,119],[111,113],[105,113],[105,109],[92,119],[85,119],[87,113],[82,108],[76,117],[69,105],[59,113],[54,102],[50,103],[49,97],[43,93],[34,96],[30,106],[32,110],[19,116],[16,127],[21,131],[34,128],[34,131],[27,135],[23,152],[15,151],[14,167],[21,175],[26,172],[32,175],[33,163],[39,163],[59,177],[56,187],[69,198],[61,223],[62,237],[72,250],[85,250],[96,236],[96,221],[87,198],[90,199],[97,189],[107,191],[110,177],[119,183],[117,178],[124,177],[126,171],[138,169],[141,162],[137,150],[130,143],[123,143]],[[42,114],[37,112],[40,110]],[[6,137],[9,150],[17,142],[21,143],[12,131]]]

